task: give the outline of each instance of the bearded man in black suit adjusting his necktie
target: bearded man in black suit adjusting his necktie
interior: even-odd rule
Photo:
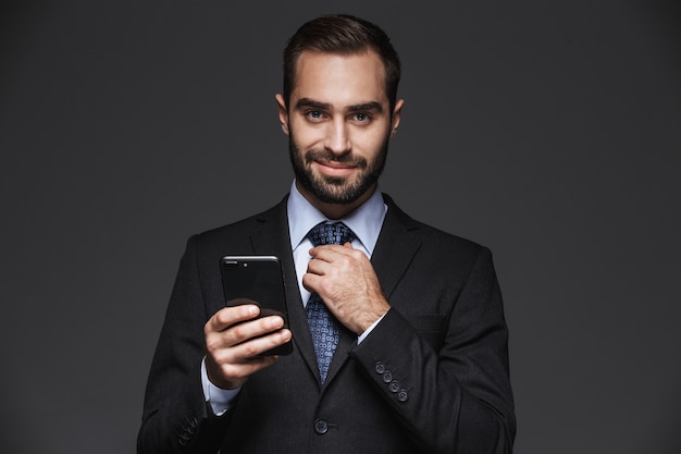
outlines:
[[[410,219],[377,189],[404,105],[388,37],[323,16],[284,60],[276,101],[295,182],[274,208],[188,241],[138,452],[511,452],[508,332],[488,249]],[[315,245],[318,224],[349,237]],[[281,259],[288,328],[256,318],[257,305],[225,307],[224,255]],[[321,356],[308,311],[327,315]],[[289,341],[290,355],[260,355]]]

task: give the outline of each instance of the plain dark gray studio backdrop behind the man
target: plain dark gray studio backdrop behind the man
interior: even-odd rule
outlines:
[[[134,452],[184,242],[288,189],[281,50],[334,10],[403,59],[383,189],[495,254],[516,452],[681,451],[673,2],[231,3],[3,3],[2,452]]]

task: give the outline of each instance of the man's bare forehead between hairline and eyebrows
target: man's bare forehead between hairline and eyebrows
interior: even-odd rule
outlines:
[[[292,101],[300,98],[339,106],[386,103],[383,61],[372,50],[348,54],[304,51],[296,62]]]

